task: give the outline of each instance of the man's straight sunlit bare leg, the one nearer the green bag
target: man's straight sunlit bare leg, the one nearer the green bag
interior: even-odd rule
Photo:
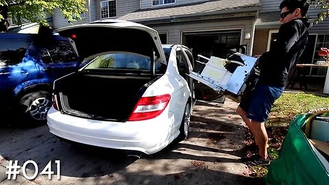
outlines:
[[[258,144],[258,153],[263,159],[266,160],[268,157],[267,143],[269,141],[269,137],[267,136],[265,123],[252,120],[251,124],[252,130],[254,130],[255,133],[255,139],[257,140]]]

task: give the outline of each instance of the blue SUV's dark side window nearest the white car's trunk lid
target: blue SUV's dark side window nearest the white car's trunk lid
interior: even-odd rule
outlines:
[[[77,54],[64,40],[56,40],[53,45],[40,49],[40,57],[45,63],[77,61]]]

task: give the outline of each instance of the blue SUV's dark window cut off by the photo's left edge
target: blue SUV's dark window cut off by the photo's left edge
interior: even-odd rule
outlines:
[[[0,66],[10,66],[22,62],[27,48],[29,47],[27,39],[1,39],[0,45]]]

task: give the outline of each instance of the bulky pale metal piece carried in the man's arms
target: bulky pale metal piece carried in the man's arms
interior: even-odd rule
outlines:
[[[247,82],[254,73],[253,69],[256,65],[256,58],[246,56],[241,53],[234,53],[229,58],[217,58],[210,56],[198,55],[199,64],[202,64],[202,68],[195,68],[190,71],[189,76],[195,79],[198,83],[206,85],[210,88],[210,92],[217,93],[218,95],[242,95]],[[204,86],[197,86],[198,90],[204,90]],[[206,97],[207,92],[202,92],[202,99],[212,99],[212,97]],[[216,97],[216,95],[213,95]]]

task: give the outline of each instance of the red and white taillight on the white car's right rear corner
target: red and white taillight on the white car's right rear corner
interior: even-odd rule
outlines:
[[[141,121],[155,118],[167,107],[169,100],[170,95],[168,94],[155,97],[141,97],[134,111],[130,114],[128,121]]]

